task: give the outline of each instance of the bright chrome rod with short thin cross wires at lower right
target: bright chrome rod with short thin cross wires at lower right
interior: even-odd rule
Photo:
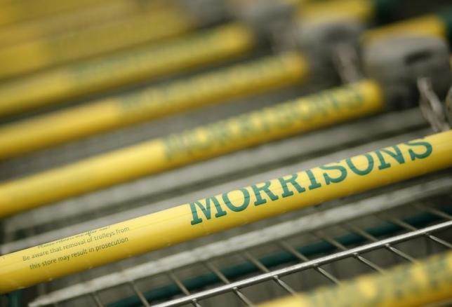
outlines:
[[[399,219],[392,219],[391,221],[394,221],[394,223],[397,223],[398,225],[406,226],[407,229],[411,229],[411,227],[404,223],[404,221],[401,221]],[[360,247],[355,247],[352,249],[347,249],[345,245],[341,244],[338,240],[335,240],[334,238],[331,238],[330,236],[324,235],[324,233],[314,233],[314,236],[317,236],[318,238],[326,241],[331,246],[334,246],[336,249],[340,250],[341,252],[337,252],[334,254],[327,255],[325,257],[320,257],[318,259],[310,260],[307,258],[304,254],[301,254],[295,248],[286,241],[281,241],[278,244],[286,250],[287,252],[290,252],[293,254],[294,257],[297,257],[301,262],[300,264],[295,264],[292,266],[286,266],[284,268],[279,268],[274,271],[270,271],[270,268],[267,268],[264,264],[262,264],[262,261],[260,261],[258,258],[254,257],[250,252],[244,252],[244,257],[248,259],[248,261],[251,261],[252,264],[254,264],[262,273],[260,275],[253,276],[251,278],[245,278],[243,280],[239,280],[237,282],[230,282],[230,280],[227,280],[227,278],[224,277],[224,275],[220,275],[220,271],[218,268],[215,268],[212,264],[208,264],[208,267],[211,268],[211,270],[218,275],[219,278],[221,278],[222,282],[225,283],[225,285],[215,287],[213,289],[207,289],[202,292],[197,292],[194,294],[190,294],[188,290],[185,288],[184,294],[185,296],[173,299],[171,301],[166,301],[164,303],[159,303],[157,306],[180,306],[186,303],[192,303],[196,306],[201,306],[201,300],[211,298],[212,296],[218,296],[221,294],[225,294],[227,292],[234,292],[238,299],[240,299],[243,303],[245,303],[248,306],[253,306],[252,299],[248,296],[246,296],[245,291],[247,287],[251,287],[253,285],[258,285],[262,282],[266,281],[273,281],[273,285],[279,287],[279,289],[282,290],[282,292],[286,292],[286,294],[295,294],[297,289],[295,288],[296,285],[291,285],[291,281],[284,279],[287,275],[298,273],[300,271],[306,271],[309,269],[312,269],[314,271],[317,271],[320,275],[324,277],[325,280],[328,280],[329,282],[333,284],[339,284],[340,278],[336,277],[335,275],[339,275],[338,273],[330,273],[330,270],[327,270],[324,268],[326,264],[330,264],[330,266],[333,266],[336,262],[347,259],[349,257],[352,257],[359,261],[361,264],[364,264],[368,268],[369,271],[376,271],[379,273],[383,273],[385,271],[385,268],[383,266],[380,266],[379,264],[376,264],[375,261],[369,259],[371,256],[368,256],[366,252],[370,252],[373,250],[378,250],[380,248],[385,248],[386,250],[392,252],[394,256],[400,257],[401,259],[404,259],[405,261],[410,262],[416,262],[416,259],[411,257],[410,255],[406,254],[406,252],[403,252],[399,247],[394,247],[394,245],[397,245],[397,243],[404,242],[406,240],[410,240],[413,238],[417,238],[418,236],[426,236],[426,238],[433,240],[435,243],[439,243],[440,245],[451,248],[451,245],[447,243],[444,240],[441,240],[440,238],[437,238],[437,236],[433,236],[430,233],[435,231],[441,231],[448,227],[452,226],[452,221],[447,221],[441,224],[437,224],[430,227],[421,228],[418,230],[409,231],[407,233],[404,233],[399,236],[394,236],[385,240],[378,240],[374,236],[371,235],[371,233],[368,233],[364,231],[361,228],[357,228],[357,226],[350,226],[347,225],[347,228],[351,228],[351,230],[354,233],[358,233],[359,236],[362,238],[366,238],[366,240],[369,240],[373,243],[368,243],[366,245],[362,245]],[[338,271],[337,269],[331,268],[331,271]],[[174,274],[173,274],[174,275]],[[178,285],[180,285],[182,289],[183,283],[178,282]],[[259,292],[261,293],[261,292]],[[260,301],[260,299],[259,299]],[[226,306],[226,305],[225,305]]]

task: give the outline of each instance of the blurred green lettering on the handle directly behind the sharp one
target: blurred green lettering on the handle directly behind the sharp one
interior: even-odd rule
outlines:
[[[353,86],[285,102],[275,107],[253,111],[164,137],[162,142],[165,155],[168,161],[172,161],[181,156],[190,158],[199,154],[215,155],[235,148],[253,146],[271,139],[293,135],[297,131],[291,128],[302,129],[304,124],[310,123],[317,117],[326,116],[325,121],[328,122],[328,115],[333,115],[342,109],[356,109],[363,102],[362,93]],[[305,107],[301,108],[301,105]]]

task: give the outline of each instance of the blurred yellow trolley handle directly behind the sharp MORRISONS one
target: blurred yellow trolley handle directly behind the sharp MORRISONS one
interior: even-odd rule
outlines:
[[[362,81],[153,139],[0,184],[0,217],[274,139],[375,114],[383,108],[383,95],[378,84]],[[91,121],[95,125],[96,117]],[[65,130],[62,135],[70,132]],[[4,144],[0,148],[4,148]]]

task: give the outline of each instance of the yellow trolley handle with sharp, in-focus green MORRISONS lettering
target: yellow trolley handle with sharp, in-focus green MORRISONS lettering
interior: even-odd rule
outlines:
[[[0,293],[451,167],[448,131],[227,191],[1,256]]]

